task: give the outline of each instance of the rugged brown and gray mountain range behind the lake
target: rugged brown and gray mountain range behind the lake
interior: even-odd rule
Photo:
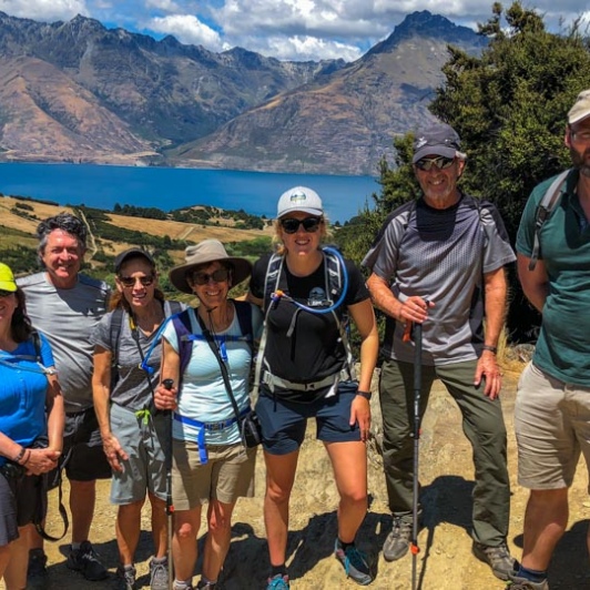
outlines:
[[[486,39],[423,11],[353,63],[293,62],[0,12],[0,160],[376,174],[449,43]]]

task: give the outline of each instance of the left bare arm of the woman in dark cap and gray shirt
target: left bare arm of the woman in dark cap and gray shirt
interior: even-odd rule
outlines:
[[[102,346],[94,347],[94,369],[92,373],[92,399],[94,413],[99,421],[104,455],[115,471],[122,471],[121,460],[128,455],[121,448],[118,438],[111,430],[110,397],[111,397],[111,359],[112,353]]]

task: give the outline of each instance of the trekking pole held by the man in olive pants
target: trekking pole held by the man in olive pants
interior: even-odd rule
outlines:
[[[423,326],[414,324],[414,481],[411,525],[411,589],[416,590],[418,547],[418,458],[420,451],[420,390],[423,378]]]

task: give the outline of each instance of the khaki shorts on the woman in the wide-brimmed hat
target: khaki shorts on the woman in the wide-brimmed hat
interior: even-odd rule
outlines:
[[[173,440],[172,500],[175,510],[191,510],[210,500],[234,503],[254,496],[256,448],[207,445],[202,465],[193,440]]]

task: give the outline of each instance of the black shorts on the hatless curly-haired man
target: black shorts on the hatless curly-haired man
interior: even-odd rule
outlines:
[[[65,415],[63,451],[65,474],[73,481],[110,479],[111,466],[102,450],[102,438],[94,408]],[[49,474],[50,487],[54,487],[55,471]]]

